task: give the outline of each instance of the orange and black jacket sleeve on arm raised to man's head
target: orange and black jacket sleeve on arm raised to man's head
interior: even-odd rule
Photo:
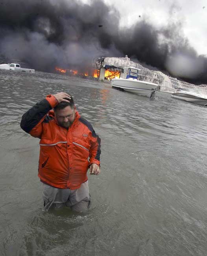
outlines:
[[[43,132],[43,121],[48,112],[57,104],[57,99],[52,95],[48,95],[46,99],[35,104],[22,116],[22,120],[20,122],[22,130],[33,137],[41,138],[41,134]]]

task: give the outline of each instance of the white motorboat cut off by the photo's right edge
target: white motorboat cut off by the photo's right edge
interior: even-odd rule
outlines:
[[[194,104],[199,104],[203,106],[207,106],[207,95],[194,93],[189,89],[181,89],[178,88],[174,93],[171,95],[173,98],[178,98],[180,100],[185,100],[188,102],[192,102]]]

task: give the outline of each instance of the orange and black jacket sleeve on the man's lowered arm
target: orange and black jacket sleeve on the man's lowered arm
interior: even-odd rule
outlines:
[[[96,163],[100,166],[101,139],[96,135],[95,131],[91,133],[91,148],[89,152],[90,163]]]

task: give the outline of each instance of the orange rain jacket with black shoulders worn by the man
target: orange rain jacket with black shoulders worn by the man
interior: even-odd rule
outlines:
[[[78,111],[68,130],[59,126],[51,110],[57,104],[56,98],[48,95],[22,116],[20,126],[41,139],[38,169],[41,181],[62,189],[78,189],[88,180],[89,165],[100,165],[100,138]]]

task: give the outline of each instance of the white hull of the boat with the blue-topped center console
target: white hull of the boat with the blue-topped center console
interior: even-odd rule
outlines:
[[[111,85],[112,87],[121,88],[124,91],[137,93],[143,96],[150,96],[152,89],[155,89],[157,87],[155,83],[144,82],[136,79],[121,79],[121,78],[112,79]]]

